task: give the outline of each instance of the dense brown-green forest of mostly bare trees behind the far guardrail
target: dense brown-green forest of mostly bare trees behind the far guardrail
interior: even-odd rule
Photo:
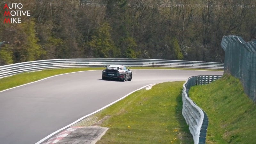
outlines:
[[[3,23],[21,3],[22,23]],[[62,58],[223,62],[224,35],[256,36],[256,0],[0,1],[0,65]]]

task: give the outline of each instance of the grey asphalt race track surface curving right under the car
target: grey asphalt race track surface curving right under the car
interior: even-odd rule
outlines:
[[[0,92],[0,144],[35,144],[148,84],[221,71],[132,70],[132,81],[101,80],[101,70],[54,76]]]

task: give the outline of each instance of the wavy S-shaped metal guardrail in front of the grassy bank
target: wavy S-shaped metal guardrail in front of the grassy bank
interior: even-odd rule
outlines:
[[[205,144],[208,127],[208,116],[193,102],[188,95],[191,86],[209,84],[222,76],[192,76],[183,84],[182,90],[182,115],[185,118],[194,144]]]

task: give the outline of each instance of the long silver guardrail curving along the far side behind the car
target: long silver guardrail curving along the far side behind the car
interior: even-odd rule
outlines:
[[[142,67],[224,69],[224,63],[156,59],[54,59],[0,66],[0,78],[47,68],[102,67],[111,64]]]

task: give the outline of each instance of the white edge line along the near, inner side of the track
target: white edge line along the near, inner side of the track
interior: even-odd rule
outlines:
[[[118,100],[116,100],[116,101],[114,101],[114,102],[108,104],[107,106],[105,106],[105,107],[103,107],[103,108],[100,108],[100,109],[98,109],[98,110],[92,112],[91,114],[88,114],[88,115],[86,115],[86,116],[83,116],[83,117],[79,118],[79,119],[76,120],[75,122],[73,122],[73,123],[71,123],[71,124],[68,124],[67,126],[65,126],[65,127],[61,128],[61,129],[59,129],[59,130],[57,130],[57,131],[51,133],[50,135],[46,136],[45,138],[43,138],[42,140],[38,141],[38,142],[35,143],[35,144],[41,144],[42,142],[44,142],[45,140],[47,140],[48,138],[50,138],[50,137],[53,136],[54,134],[56,134],[56,133],[58,133],[58,132],[60,132],[60,131],[62,131],[62,130],[64,130],[64,129],[66,129],[66,128],[68,128],[68,127],[70,127],[70,126],[73,125],[73,124],[76,124],[77,122],[83,120],[84,118],[86,118],[86,117],[88,117],[88,116],[91,116],[91,115],[93,115],[93,114],[99,112],[100,110],[102,110],[102,109],[104,109],[104,108],[107,108],[107,107],[111,106],[112,104],[118,102],[119,100],[124,99],[125,97],[127,97],[127,96],[130,95],[130,94],[132,94],[133,92],[139,91],[139,90],[141,90],[141,89],[143,89],[143,88],[145,88],[145,87],[147,87],[147,86],[149,86],[149,85],[152,85],[152,84],[145,85],[145,86],[143,86],[143,87],[141,87],[141,88],[139,88],[139,89],[137,89],[137,90],[135,90],[135,91],[132,91],[132,92],[126,94],[125,96],[123,96],[122,98],[120,98],[120,99],[118,99]]]

